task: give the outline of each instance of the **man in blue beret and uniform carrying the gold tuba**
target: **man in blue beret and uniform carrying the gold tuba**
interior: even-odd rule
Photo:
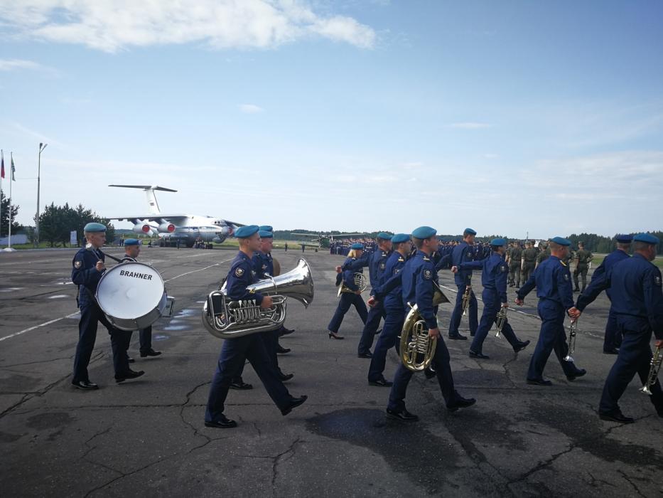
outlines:
[[[428,336],[437,341],[435,355],[433,356],[433,369],[438,378],[442,396],[449,411],[473,405],[474,398],[463,398],[453,387],[453,375],[449,363],[449,351],[444,344],[437,322],[437,307],[433,306],[433,282],[437,284],[438,277],[431,260],[431,254],[438,247],[436,230],[429,226],[421,226],[412,232],[412,241],[416,253],[405,264],[401,272],[401,298],[403,307],[409,309],[408,303],[416,303],[422,319],[426,321]],[[417,415],[410,413],[405,407],[407,385],[414,372],[399,364],[394,376],[394,385],[389,393],[387,417],[404,422],[419,420]]]

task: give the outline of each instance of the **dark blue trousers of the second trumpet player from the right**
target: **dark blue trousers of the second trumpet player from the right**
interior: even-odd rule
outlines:
[[[539,332],[537,347],[529,361],[527,378],[533,381],[543,379],[546,361],[553,350],[564,373],[566,375],[575,374],[578,369],[573,361],[564,361],[564,356],[568,354],[566,332],[564,331],[564,315],[566,314],[564,306],[551,300],[539,300],[538,310],[539,317],[541,317],[541,332]]]

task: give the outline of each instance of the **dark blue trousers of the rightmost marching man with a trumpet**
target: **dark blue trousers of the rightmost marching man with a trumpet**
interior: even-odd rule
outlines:
[[[623,316],[623,315],[622,315]],[[649,341],[652,339],[652,329],[649,324],[640,325],[632,318],[618,317],[618,330],[623,335],[622,345],[617,360],[608,373],[603,386],[603,394],[598,406],[600,413],[611,412],[619,408],[618,401],[626,387],[637,373],[642,384],[647,380],[649,366],[652,361],[652,349]],[[634,327],[635,325],[635,327]],[[659,380],[649,388],[649,396],[654,406],[663,407],[663,391]]]

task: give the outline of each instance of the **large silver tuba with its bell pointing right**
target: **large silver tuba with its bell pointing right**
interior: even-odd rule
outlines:
[[[210,292],[203,304],[203,325],[207,332],[219,339],[234,339],[278,329],[286,319],[286,297],[298,300],[304,307],[313,302],[311,267],[300,259],[284,275],[259,280],[247,289],[271,296],[271,306],[263,309],[254,300],[230,300],[223,285],[220,290]]]

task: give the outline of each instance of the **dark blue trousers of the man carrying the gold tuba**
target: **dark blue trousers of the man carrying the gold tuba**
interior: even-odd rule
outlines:
[[[453,375],[451,374],[451,364],[449,363],[449,350],[444,343],[442,336],[437,339],[438,344],[435,348],[435,356],[431,362],[431,367],[435,370],[442,391],[442,397],[446,406],[451,406],[456,403],[460,397],[453,388]],[[401,411],[405,408],[405,393],[407,391],[407,384],[412,378],[414,371],[411,371],[402,363],[399,364],[394,376],[394,385],[392,391],[389,392],[389,410]]]

